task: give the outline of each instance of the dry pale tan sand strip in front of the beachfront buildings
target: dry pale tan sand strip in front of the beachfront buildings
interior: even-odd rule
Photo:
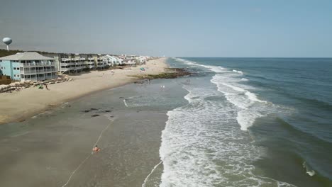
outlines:
[[[165,60],[166,58],[160,58],[150,60],[138,67],[92,71],[70,76],[74,81],[49,85],[49,91],[28,88],[23,91],[1,94],[0,124],[21,121],[74,98],[131,83],[138,79],[132,77],[135,75],[160,74],[165,72],[167,67]],[[144,67],[145,71],[140,71],[141,67]]]

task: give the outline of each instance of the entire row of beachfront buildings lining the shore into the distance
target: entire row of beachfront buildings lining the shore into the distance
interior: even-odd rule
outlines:
[[[57,74],[81,73],[87,70],[107,69],[118,65],[145,64],[150,57],[135,55],[79,55],[18,52],[0,58],[0,75],[16,81],[42,81],[57,78]]]

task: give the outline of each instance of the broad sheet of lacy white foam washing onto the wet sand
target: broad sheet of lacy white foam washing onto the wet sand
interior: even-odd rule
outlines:
[[[253,174],[251,163],[265,149],[251,144],[250,136],[238,128],[239,108],[212,84],[184,89],[189,103],[167,113],[162,131],[160,186],[277,186],[280,181]]]

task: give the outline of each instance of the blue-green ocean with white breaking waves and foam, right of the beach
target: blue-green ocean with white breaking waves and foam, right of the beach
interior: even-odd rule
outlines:
[[[167,112],[160,186],[332,186],[332,59],[168,63],[197,74]]]

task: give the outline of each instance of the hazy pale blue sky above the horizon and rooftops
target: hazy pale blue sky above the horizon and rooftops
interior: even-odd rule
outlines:
[[[332,1],[1,0],[4,37],[51,52],[332,57]]]

